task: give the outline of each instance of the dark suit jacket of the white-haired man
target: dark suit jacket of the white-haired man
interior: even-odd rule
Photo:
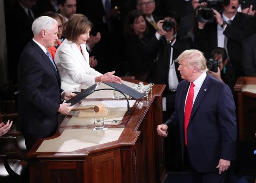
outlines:
[[[17,129],[27,134],[52,134],[57,128],[61,79],[49,57],[31,40],[19,63]]]

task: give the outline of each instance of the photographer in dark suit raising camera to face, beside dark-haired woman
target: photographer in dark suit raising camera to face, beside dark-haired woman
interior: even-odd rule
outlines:
[[[163,29],[164,20],[172,21],[172,29]],[[157,67],[155,69],[154,83],[166,84],[164,97],[166,98],[167,113],[174,110],[175,92],[181,76],[178,69],[179,64],[174,60],[186,49],[192,49],[193,42],[190,37],[183,38],[177,35],[180,18],[174,11],[167,13],[163,20],[157,23],[158,30],[149,43],[149,53],[157,55]]]

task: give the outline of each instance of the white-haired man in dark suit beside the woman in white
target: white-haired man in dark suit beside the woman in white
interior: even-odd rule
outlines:
[[[39,138],[51,137],[58,127],[58,113],[67,114],[73,108],[61,103],[76,96],[61,89],[58,68],[47,50],[58,39],[58,23],[47,16],[32,24],[34,38],[24,48],[19,61],[19,109],[17,129],[23,133],[26,148],[32,148]]]

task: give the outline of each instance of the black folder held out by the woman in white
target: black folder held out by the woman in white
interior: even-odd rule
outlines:
[[[135,89],[132,89],[131,87],[125,85],[125,84],[117,84],[117,83],[109,83],[109,82],[103,82],[108,86],[113,87],[114,89],[117,89],[125,94],[128,94],[131,97],[134,97],[135,99],[140,99],[144,97],[143,93],[140,93],[136,91]]]

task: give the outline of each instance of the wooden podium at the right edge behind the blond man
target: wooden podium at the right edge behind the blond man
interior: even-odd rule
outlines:
[[[256,77],[239,77],[237,92],[239,140],[256,140]]]

